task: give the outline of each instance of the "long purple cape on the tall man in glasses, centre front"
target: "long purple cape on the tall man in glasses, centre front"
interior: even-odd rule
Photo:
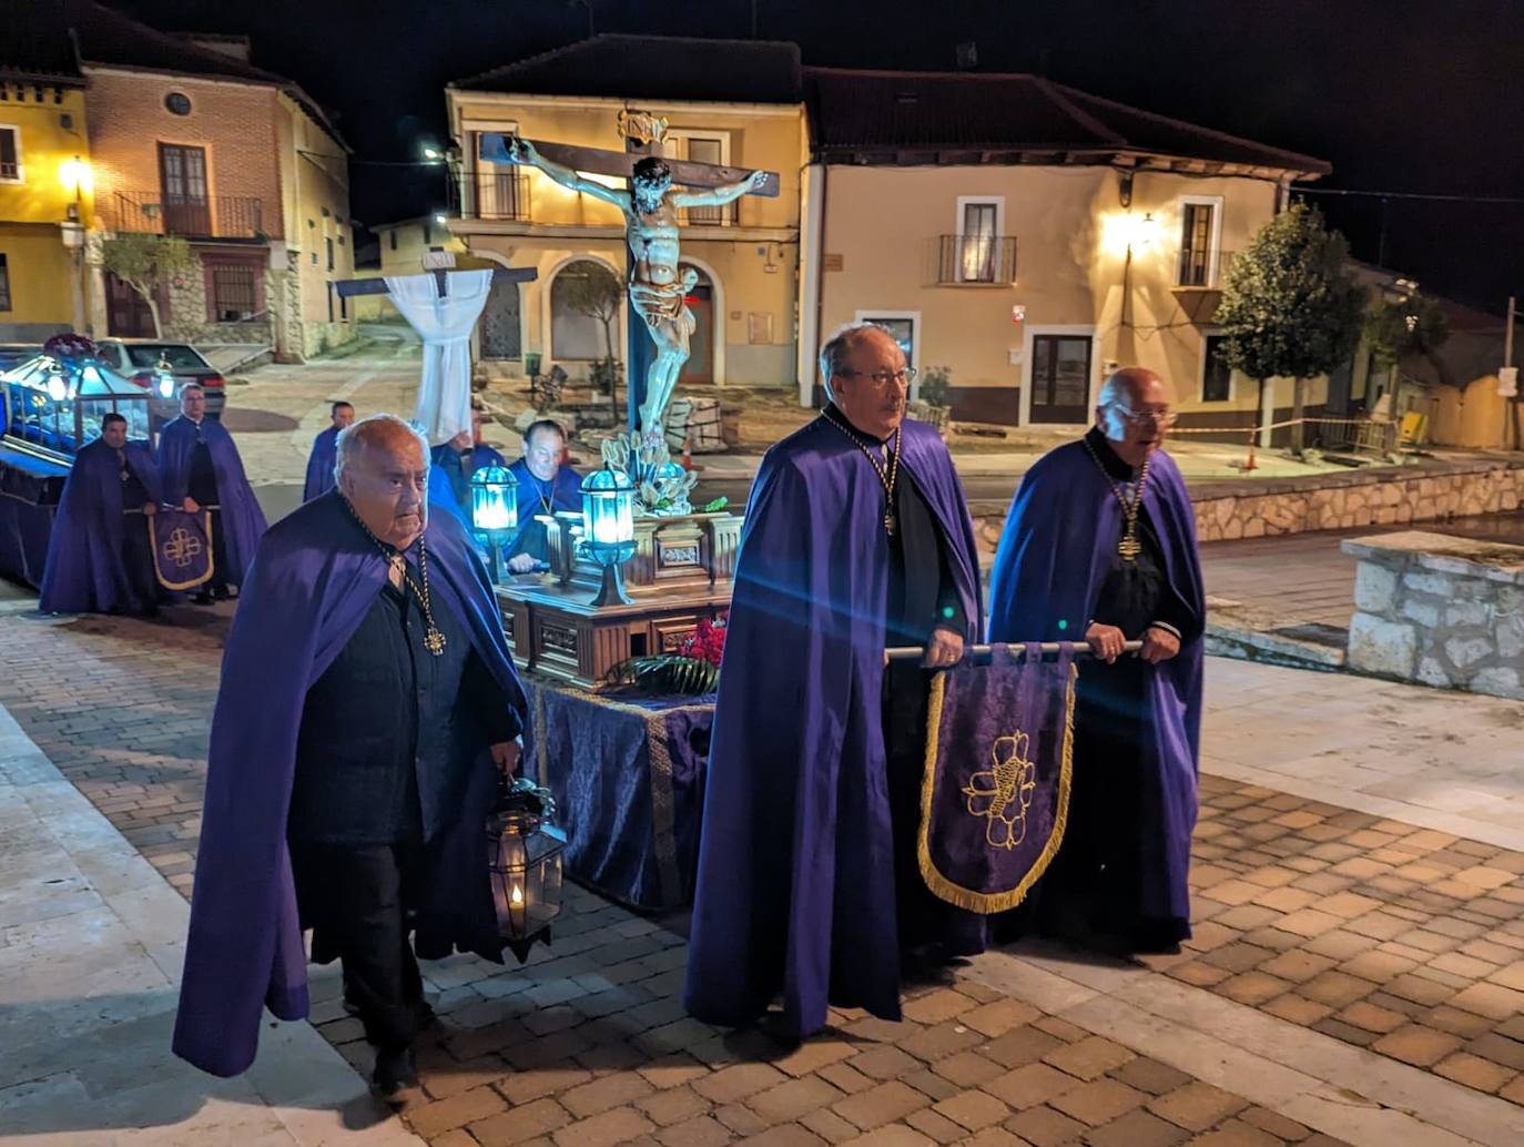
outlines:
[[[966,640],[974,529],[937,433],[904,423],[901,481],[942,529]],[[742,1025],[774,996],[806,1036],[826,1005],[899,1019],[881,685],[884,489],[817,419],[762,460],[747,507],[706,781],[686,1005]]]

